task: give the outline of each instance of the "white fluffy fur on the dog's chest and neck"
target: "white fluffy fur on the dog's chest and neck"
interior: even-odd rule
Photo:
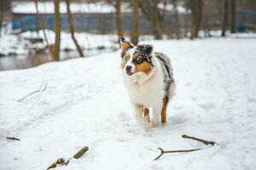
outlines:
[[[143,72],[139,72],[130,77],[126,76],[125,73],[123,74],[125,87],[130,95],[131,103],[133,104],[147,107],[160,105],[164,97],[162,69],[157,59],[154,58],[152,61],[154,69],[152,69],[148,75]]]

